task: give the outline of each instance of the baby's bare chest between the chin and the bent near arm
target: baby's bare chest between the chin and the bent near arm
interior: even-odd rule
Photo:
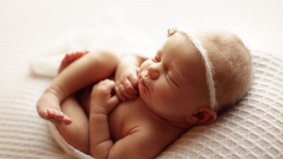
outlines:
[[[127,136],[132,128],[149,120],[149,116],[154,115],[152,113],[140,97],[121,102],[108,115],[112,139],[117,141]]]

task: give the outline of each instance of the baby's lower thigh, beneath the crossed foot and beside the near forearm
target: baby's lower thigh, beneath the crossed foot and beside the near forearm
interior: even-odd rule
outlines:
[[[58,131],[74,148],[89,154],[88,119],[76,97],[73,95],[64,100],[61,104],[61,109],[73,122],[69,125],[56,125]]]

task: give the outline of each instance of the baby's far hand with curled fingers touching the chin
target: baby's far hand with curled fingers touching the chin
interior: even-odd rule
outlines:
[[[115,73],[115,92],[121,100],[136,99],[138,91],[139,67],[119,64]]]

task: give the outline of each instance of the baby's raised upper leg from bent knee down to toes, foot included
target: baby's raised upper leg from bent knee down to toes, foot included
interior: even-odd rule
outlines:
[[[70,124],[60,103],[70,94],[109,78],[115,71],[119,57],[110,51],[93,51],[68,65],[46,89],[37,103],[38,114],[54,124]]]

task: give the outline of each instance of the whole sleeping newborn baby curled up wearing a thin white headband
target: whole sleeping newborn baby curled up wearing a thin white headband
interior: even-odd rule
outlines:
[[[95,158],[153,158],[194,124],[215,121],[251,85],[250,53],[238,36],[195,35],[169,29],[151,59],[110,51],[66,55],[37,103],[39,115]]]

